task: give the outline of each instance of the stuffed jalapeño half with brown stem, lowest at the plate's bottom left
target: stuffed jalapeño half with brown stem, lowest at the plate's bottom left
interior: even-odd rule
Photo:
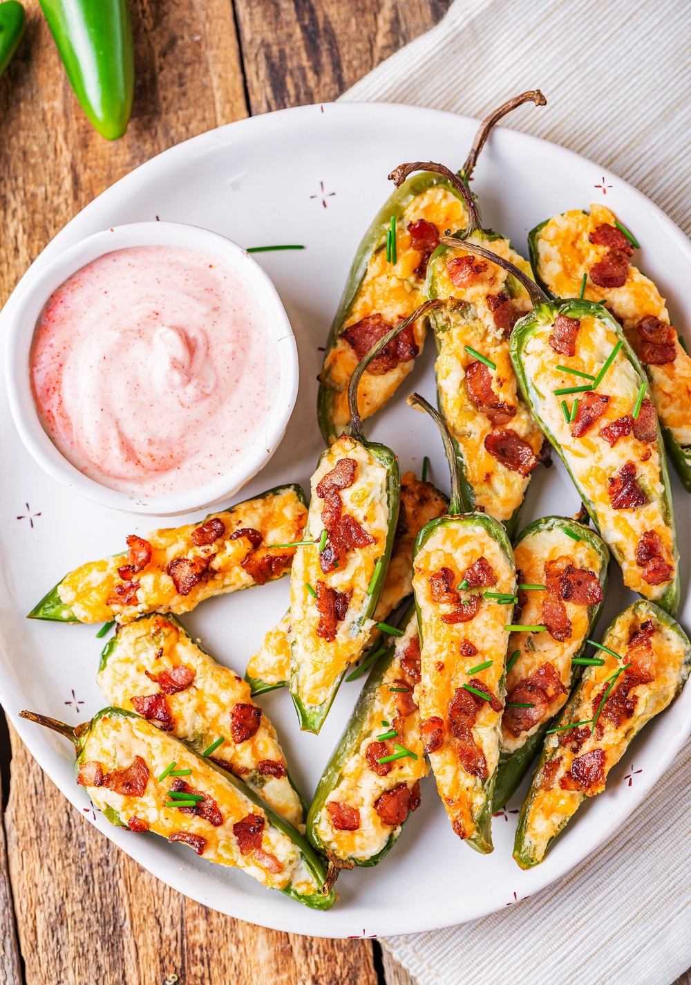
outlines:
[[[328,909],[326,870],[301,834],[234,776],[151,722],[104,708],[76,729],[23,711],[77,751],[77,782],[119,827],[182,842],[210,862],[240,869],[314,909]]]

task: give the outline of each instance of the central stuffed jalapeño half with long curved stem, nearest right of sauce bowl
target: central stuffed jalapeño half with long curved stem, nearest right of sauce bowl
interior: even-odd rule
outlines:
[[[306,541],[290,574],[290,694],[300,728],[319,732],[348,667],[374,626],[394,543],[400,503],[399,463],[367,441],[357,386],[370,361],[434,301],[391,329],[350,377],[350,434],[323,452],[312,476]]]

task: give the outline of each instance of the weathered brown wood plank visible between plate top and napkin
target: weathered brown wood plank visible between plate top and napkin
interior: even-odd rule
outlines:
[[[451,0],[235,0],[252,113],[336,99]]]

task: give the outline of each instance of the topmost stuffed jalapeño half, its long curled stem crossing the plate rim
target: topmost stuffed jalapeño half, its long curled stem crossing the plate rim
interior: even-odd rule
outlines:
[[[524,102],[544,105],[539,91],[523,93],[483,120],[471,153],[459,172],[471,179],[477,157],[494,124]],[[318,418],[324,440],[335,441],[348,422],[347,387],[357,362],[397,322],[424,300],[427,262],[444,230],[466,226],[458,188],[428,171],[406,181],[389,198],[364,234],[350,267],[346,289],[331,326],[324,366],[319,374]],[[364,421],[391,399],[422,351],[426,319],[405,332],[372,361],[359,395]]]

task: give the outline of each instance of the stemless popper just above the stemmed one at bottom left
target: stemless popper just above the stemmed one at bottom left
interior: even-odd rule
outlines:
[[[249,685],[209,656],[174,616],[145,616],[103,648],[98,687],[106,701],[134,709],[163,732],[251,787],[293,827],[304,809],[287,774],[276,729]]]

